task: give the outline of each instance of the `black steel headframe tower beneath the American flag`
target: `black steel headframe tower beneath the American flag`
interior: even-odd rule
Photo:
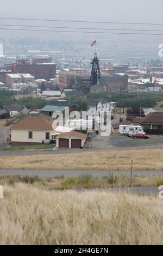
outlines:
[[[98,83],[98,79],[101,78],[101,72],[99,69],[99,59],[97,57],[97,53],[94,54],[94,58],[91,62],[92,65],[92,71],[91,71],[91,78],[90,78],[90,88],[91,86],[95,86],[95,84]]]

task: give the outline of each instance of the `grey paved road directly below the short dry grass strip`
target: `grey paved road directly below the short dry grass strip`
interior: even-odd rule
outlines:
[[[62,176],[65,177],[77,177],[81,174],[90,174],[93,177],[102,177],[107,176],[109,173],[114,173],[116,175],[126,174],[130,175],[128,170],[24,170],[24,169],[0,169],[0,176],[3,175],[38,175],[40,177],[55,177]],[[142,175],[142,176],[163,176],[162,170],[136,170],[133,172],[133,175]]]

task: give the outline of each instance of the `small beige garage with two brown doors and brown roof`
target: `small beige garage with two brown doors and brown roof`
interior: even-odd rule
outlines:
[[[56,137],[58,148],[83,148],[87,135],[77,131],[62,132]]]

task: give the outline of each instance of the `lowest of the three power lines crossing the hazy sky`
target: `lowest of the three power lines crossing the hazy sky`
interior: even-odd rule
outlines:
[[[96,34],[124,34],[124,35],[163,35],[156,33],[126,33],[126,32],[99,32],[99,31],[54,31],[54,30],[43,30],[43,29],[23,29],[23,28],[0,28],[1,30],[10,31],[39,31],[39,32],[64,32],[64,33],[96,33]]]

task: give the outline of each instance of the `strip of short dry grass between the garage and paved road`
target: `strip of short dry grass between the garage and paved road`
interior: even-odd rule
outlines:
[[[1,156],[1,169],[163,170],[163,149]]]

